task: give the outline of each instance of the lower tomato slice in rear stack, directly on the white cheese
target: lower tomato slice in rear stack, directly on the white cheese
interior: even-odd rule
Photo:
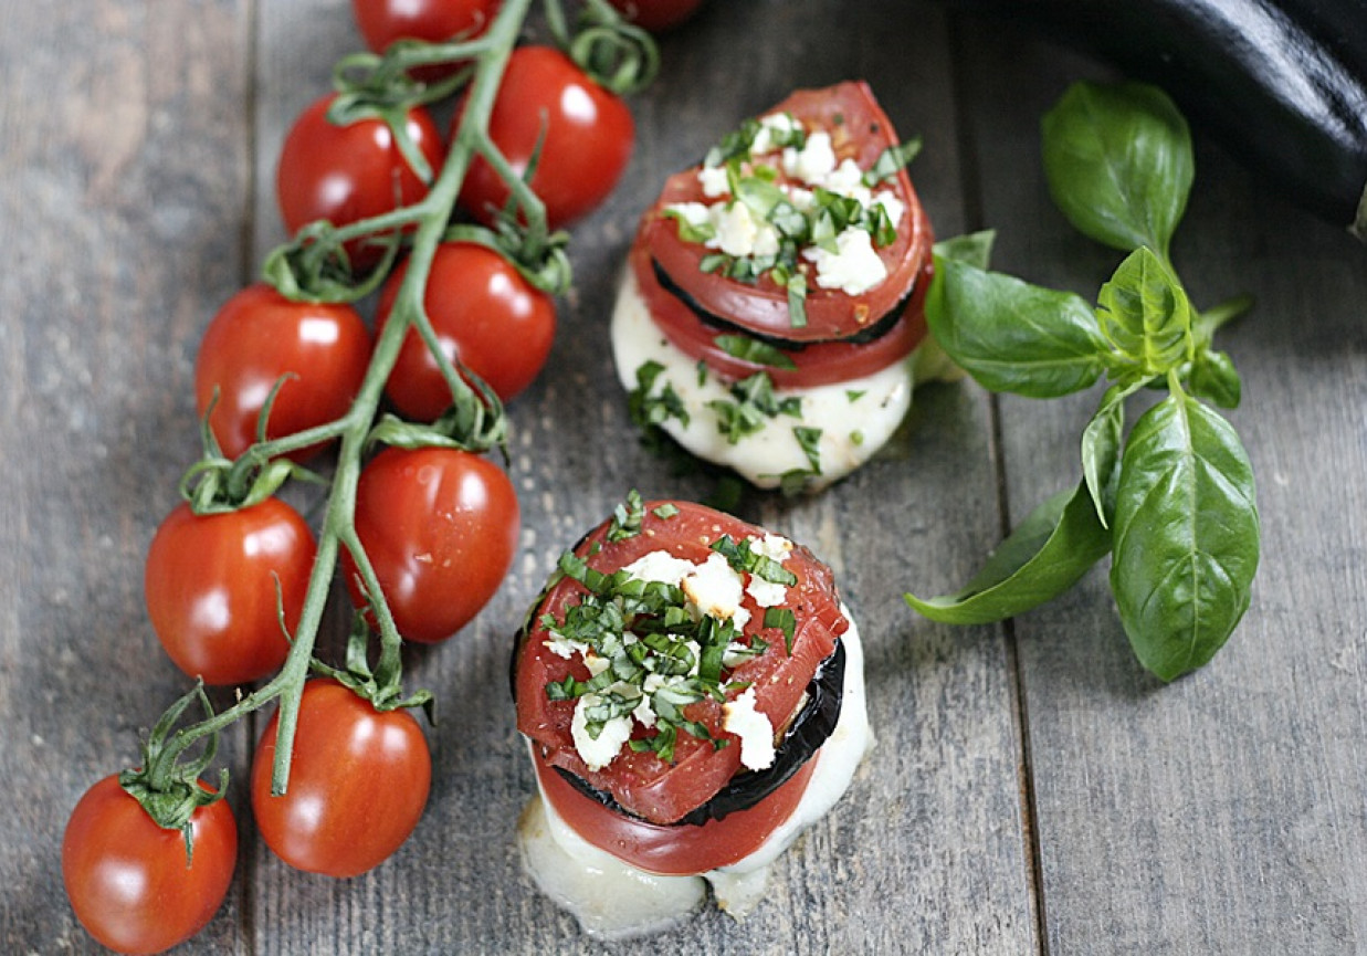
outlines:
[[[924,217],[924,213],[921,213]],[[927,231],[930,226],[925,227]],[[930,289],[934,265],[930,258],[921,265],[910,298],[901,317],[871,342],[812,342],[798,347],[782,347],[796,368],[776,368],[737,358],[716,343],[718,335],[734,334],[735,328],[703,321],[678,295],[660,286],[649,248],[637,239],[630,252],[630,269],[636,287],[645,300],[660,332],[675,349],[690,358],[701,360],[722,379],[737,382],[756,372],[767,372],[779,388],[815,388],[816,386],[850,382],[880,372],[893,362],[906,358],[924,341],[925,290]],[[772,342],[772,345],[778,345]]]

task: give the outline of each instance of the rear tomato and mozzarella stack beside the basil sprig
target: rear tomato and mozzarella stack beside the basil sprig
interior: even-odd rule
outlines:
[[[671,176],[612,316],[633,419],[759,487],[822,488],[910,408],[931,226],[865,83],[798,90]]]

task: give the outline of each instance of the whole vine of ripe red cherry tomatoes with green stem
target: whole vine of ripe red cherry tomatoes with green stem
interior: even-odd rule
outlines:
[[[513,7],[528,4],[507,0]],[[422,814],[431,756],[405,710],[422,695],[399,699],[396,646],[446,640],[506,576],[519,539],[518,502],[481,451],[502,440],[502,402],[533,382],[555,335],[554,291],[517,239],[534,233],[545,248],[555,242],[551,230],[596,208],[634,137],[621,96],[566,53],[510,51],[521,30],[499,31],[511,23],[499,18],[503,8],[500,0],[354,1],[376,52],[403,38],[454,44],[469,49],[465,64],[476,75],[506,57],[493,101],[481,107],[487,129],[463,123],[469,92],[458,94],[465,98],[450,137],[425,100],[381,103],[369,114],[339,114],[355,105],[347,93],[314,101],[283,142],[276,190],[295,237],[283,249],[299,261],[321,249],[327,257],[314,264],[325,265],[301,280],[291,264],[282,280],[268,260],[269,284],[232,295],[205,331],[194,376],[205,454],[183,481],[187,502],[152,540],[148,615],[187,676],[209,685],[267,682],[219,715],[202,689],[191,692],[208,717],[172,734],[187,704],[170,708],[144,743],[142,766],[101,780],[72,811],[63,844],[67,894],[90,934],[116,951],[160,952],[189,938],[232,881],[236,823],[198,781],[208,759],[190,769],[176,762],[189,745],[182,739],[217,734],[272,699],[297,700],[293,734],[278,740],[278,711],[261,737],[250,803],[267,845],[302,870],[364,873],[392,855]],[[504,45],[481,47],[485,30]],[[411,66],[410,86],[452,92],[465,77],[461,59]],[[507,170],[481,159],[489,150],[513,175],[526,176],[534,163],[525,189],[509,189]],[[465,171],[463,189],[451,190],[444,207],[432,204],[447,168]],[[544,208],[525,201],[526,189]],[[524,200],[509,205],[510,191]],[[418,224],[433,219],[455,231],[422,246],[418,265]],[[355,294],[316,291],[335,289],[339,268]],[[369,289],[380,289],[370,323],[349,304],[365,301]],[[396,321],[402,335],[388,335]],[[385,410],[410,431],[372,453],[391,440]],[[327,518],[310,528],[276,492],[320,458],[324,473],[332,469],[321,479]],[[380,630],[380,666],[370,673],[368,655],[357,663],[349,654],[346,672],[314,662],[329,677],[303,682],[295,652],[312,652],[335,568],[358,609],[357,637]],[[288,786],[275,796],[286,766],[280,747],[291,748]],[[159,788],[167,786],[185,797],[174,812],[163,810],[174,800],[148,799],[164,797],[170,791]]]

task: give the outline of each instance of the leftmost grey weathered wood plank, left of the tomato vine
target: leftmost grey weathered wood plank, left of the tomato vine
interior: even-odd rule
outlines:
[[[148,625],[142,557],[198,447],[193,347],[241,280],[246,12],[0,4],[5,952],[97,949],[62,890],[67,814],[189,687]],[[239,890],[206,951],[241,944]]]

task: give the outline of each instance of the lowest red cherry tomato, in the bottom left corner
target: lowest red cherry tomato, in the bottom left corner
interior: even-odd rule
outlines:
[[[159,953],[204,929],[232,884],[238,825],[219,800],[194,811],[190,832],[186,866],[180,830],[157,826],[118,775],[86,791],[62,840],[67,899],[86,931],[120,953]]]

